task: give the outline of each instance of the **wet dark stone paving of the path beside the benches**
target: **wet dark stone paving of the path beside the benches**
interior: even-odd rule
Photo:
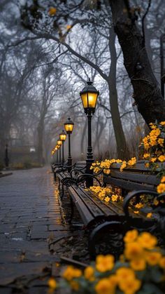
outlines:
[[[66,222],[50,168],[1,178],[0,294],[47,293],[48,276],[59,275],[62,243],[59,254],[52,246],[78,232]]]

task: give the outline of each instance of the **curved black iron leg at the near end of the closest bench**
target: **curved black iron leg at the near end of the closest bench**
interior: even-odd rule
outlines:
[[[96,248],[95,248],[95,243],[96,243],[96,238],[97,236],[100,234],[101,231],[103,230],[108,230],[108,229],[113,229],[115,231],[115,229],[119,228],[119,226],[121,227],[121,232],[122,232],[122,224],[121,222],[117,222],[117,221],[106,221],[103,222],[103,224],[98,225],[97,227],[95,227],[92,231],[92,233],[89,236],[89,255],[92,258],[92,260],[94,260],[96,258]]]

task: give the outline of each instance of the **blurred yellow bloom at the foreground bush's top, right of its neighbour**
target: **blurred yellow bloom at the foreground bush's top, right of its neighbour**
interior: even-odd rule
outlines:
[[[138,244],[143,248],[152,249],[157,245],[157,238],[148,232],[143,232],[138,236]]]

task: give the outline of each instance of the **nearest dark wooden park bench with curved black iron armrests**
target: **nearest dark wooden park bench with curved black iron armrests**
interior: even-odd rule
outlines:
[[[134,206],[130,205],[130,200],[133,197],[137,197],[138,203],[141,194],[153,197],[153,199],[158,195],[156,187],[159,179],[156,173],[152,175],[150,169],[145,168],[143,161],[136,163],[134,167],[124,169],[123,172],[120,172],[120,164],[113,164],[110,168],[110,175],[103,175],[103,185],[115,185],[122,189],[124,203],[122,201],[105,203],[94,192],[82,187],[88,176],[82,174],[78,176],[76,181],[72,181],[71,178],[68,181],[64,180],[64,184],[68,187],[71,199],[71,220],[73,218],[73,204],[75,204],[85,228],[90,232],[89,255],[92,258],[98,253],[96,252],[96,243],[105,236],[105,232],[116,232],[123,235],[128,229],[135,227],[140,230],[150,230],[150,232],[157,228],[159,217],[158,219],[146,218],[143,211],[136,214]],[[99,185],[101,185],[100,182]],[[164,225],[164,220],[162,224]],[[112,238],[108,240],[108,243],[115,248],[117,241],[113,241]]]

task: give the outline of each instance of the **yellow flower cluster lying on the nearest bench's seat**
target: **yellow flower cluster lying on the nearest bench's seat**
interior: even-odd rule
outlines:
[[[106,202],[116,202],[122,200],[122,196],[114,194],[112,188],[110,187],[92,186],[90,187],[90,190],[98,194],[99,198]]]

